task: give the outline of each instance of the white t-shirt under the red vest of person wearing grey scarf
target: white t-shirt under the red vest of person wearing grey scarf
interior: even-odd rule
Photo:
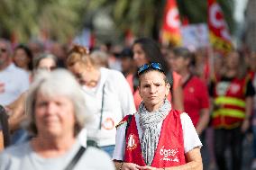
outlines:
[[[139,138],[142,139],[142,128],[139,123],[139,114],[135,114],[135,121],[137,130],[139,133]],[[183,130],[183,139],[184,139],[184,151],[187,153],[188,151],[192,150],[193,148],[202,147],[202,143],[197,135],[197,131],[187,113],[180,114],[180,120]],[[158,129],[161,130],[161,121],[158,124]],[[115,137],[115,148],[113,159],[115,160],[123,160],[124,156],[124,149],[125,149],[125,129],[126,123],[123,123],[117,128],[116,137]]]

